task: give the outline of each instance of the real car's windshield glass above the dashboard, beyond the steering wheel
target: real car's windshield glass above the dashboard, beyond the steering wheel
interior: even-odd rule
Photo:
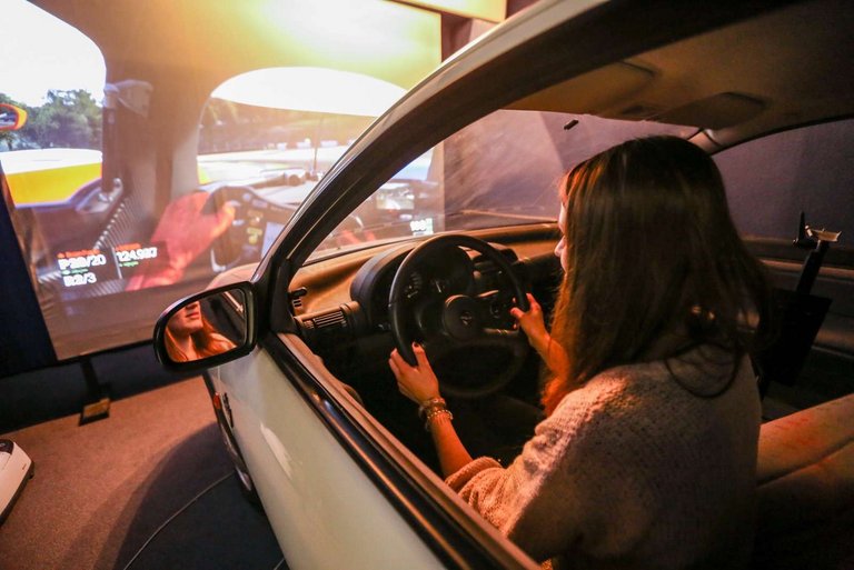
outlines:
[[[500,110],[454,133],[380,186],[312,257],[371,242],[557,219],[557,182],[622,141],[694,127]]]

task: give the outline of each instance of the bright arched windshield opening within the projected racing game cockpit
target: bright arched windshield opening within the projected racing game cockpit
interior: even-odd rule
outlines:
[[[199,126],[199,178],[301,191],[262,192],[299,203],[319,177],[405,89],[360,73],[310,67],[257,69],[211,94]],[[306,184],[306,182],[309,182]]]

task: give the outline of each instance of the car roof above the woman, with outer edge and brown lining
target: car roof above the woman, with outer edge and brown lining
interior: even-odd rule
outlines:
[[[434,107],[455,107],[457,126],[496,100],[508,109],[693,126],[692,141],[709,152],[854,116],[847,0],[664,4],[540,0],[455,53],[369,139],[434,99]],[[457,82],[474,94],[455,93]],[[430,124],[443,127],[451,131]]]

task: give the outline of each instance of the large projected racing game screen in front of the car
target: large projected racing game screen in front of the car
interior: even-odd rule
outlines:
[[[338,157],[441,59],[440,17],[391,2],[265,22],[240,44],[269,67],[211,69],[156,50],[105,58],[31,2],[3,9],[2,199],[60,360],[148,341],[173,301],[230,269],[249,278]],[[354,13],[371,16],[342,37]],[[420,182],[389,188],[322,249],[410,223]]]

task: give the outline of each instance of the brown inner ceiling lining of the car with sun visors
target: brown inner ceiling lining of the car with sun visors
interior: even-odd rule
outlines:
[[[694,126],[717,146],[854,113],[854,9],[788,6],[625,58],[516,109]]]

